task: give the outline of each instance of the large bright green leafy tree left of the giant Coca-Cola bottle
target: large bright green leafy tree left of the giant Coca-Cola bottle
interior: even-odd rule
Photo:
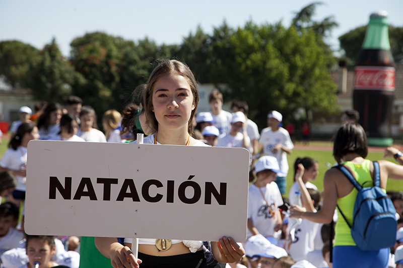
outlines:
[[[285,118],[298,108],[337,111],[327,55],[312,29],[248,22],[214,46],[227,53],[212,66],[214,82],[228,83],[229,98],[245,100],[260,126],[270,110],[281,111]]]

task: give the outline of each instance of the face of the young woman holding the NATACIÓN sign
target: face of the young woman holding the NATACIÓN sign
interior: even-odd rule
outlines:
[[[154,84],[153,109],[159,130],[178,130],[187,126],[195,108],[187,80],[177,74],[164,74]]]

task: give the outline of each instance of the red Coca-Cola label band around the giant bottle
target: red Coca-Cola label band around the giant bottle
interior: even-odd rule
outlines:
[[[356,67],[354,87],[394,90],[393,67]]]

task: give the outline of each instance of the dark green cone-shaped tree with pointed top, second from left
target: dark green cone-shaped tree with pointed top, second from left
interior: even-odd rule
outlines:
[[[72,84],[80,80],[53,39],[40,51],[40,60],[30,65],[28,86],[37,100],[63,102],[72,93]]]

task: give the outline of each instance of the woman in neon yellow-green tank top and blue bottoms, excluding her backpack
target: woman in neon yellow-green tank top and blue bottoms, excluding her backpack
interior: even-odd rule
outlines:
[[[364,129],[357,123],[346,123],[337,132],[333,144],[333,156],[338,163],[343,163],[356,180],[365,186],[372,186],[373,163],[365,159],[368,154],[367,137]],[[380,187],[386,189],[387,178],[403,180],[403,166],[390,161],[379,160]],[[306,212],[293,206],[292,217],[308,219],[318,223],[329,223],[334,209],[339,205],[348,221],[352,221],[357,190],[348,178],[337,168],[326,171],[323,177],[324,198],[322,209],[316,213]],[[333,268],[387,267],[389,249],[361,251],[351,236],[345,220],[339,217],[335,228],[333,247]]]

